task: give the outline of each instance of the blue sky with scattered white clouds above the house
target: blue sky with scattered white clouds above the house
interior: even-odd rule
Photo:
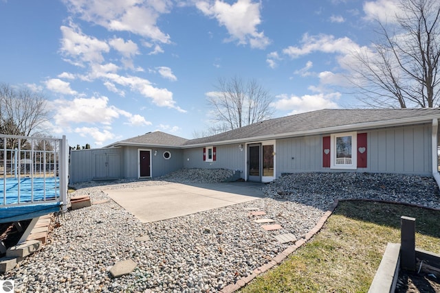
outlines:
[[[352,50],[395,0],[0,0],[0,82],[42,91],[47,132],[100,147],[210,126],[219,78],[254,79],[274,117],[360,103]]]

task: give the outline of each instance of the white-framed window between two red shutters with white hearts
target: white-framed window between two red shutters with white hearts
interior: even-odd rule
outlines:
[[[331,169],[356,169],[357,143],[356,132],[331,134]]]

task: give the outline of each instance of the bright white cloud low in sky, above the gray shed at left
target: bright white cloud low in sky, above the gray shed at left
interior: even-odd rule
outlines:
[[[115,106],[107,105],[107,97],[76,97],[73,100],[56,99],[54,108],[55,124],[58,126],[69,126],[72,123],[91,123],[110,125],[113,119],[122,114]]]

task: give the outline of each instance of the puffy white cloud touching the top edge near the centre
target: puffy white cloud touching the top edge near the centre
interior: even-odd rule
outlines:
[[[223,25],[230,38],[226,41],[237,40],[240,45],[250,44],[253,48],[264,49],[270,44],[263,32],[258,32],[256,27],[261,23],[261,3],[251,0],[237,0],[229,4],[224,1],[198,1],[196,7],[206,16],[217,19]]]

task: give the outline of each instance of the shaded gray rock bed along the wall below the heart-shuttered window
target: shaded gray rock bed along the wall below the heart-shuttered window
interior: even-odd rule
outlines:
[[[364,198],[419,204],[440,209],[440,192],[432,176],[355,172],[286,174],[264,189],[270,198],[325,209],[335,199]]]

